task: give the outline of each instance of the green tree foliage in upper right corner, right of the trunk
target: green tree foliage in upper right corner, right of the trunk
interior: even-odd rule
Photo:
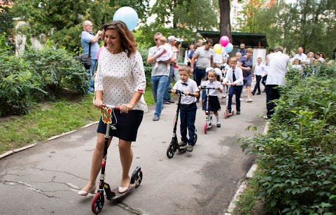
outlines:
[[[320,51],[331,57],[336,47],[336,1],[279,1],[270,7],[255,8],[253,4],[246,6],[251,13],[244,10],[247,22],[240,31],[266,33],[269,46],[283,46],[288,53],[302,46],[306,52]]]

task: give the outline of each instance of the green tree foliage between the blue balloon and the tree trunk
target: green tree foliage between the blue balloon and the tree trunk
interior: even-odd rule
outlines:
[[[197,30],[207,31],[219,28],[218,1],[156,1],[150,15],[157,15],[155,22],[141,27],[143,34],[138,41],[151,45],[154,45],[155,32],[175,35],[184,41],[195,41]]]

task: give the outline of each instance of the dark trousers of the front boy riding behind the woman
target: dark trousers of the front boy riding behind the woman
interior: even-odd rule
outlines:
[[[193,104],[181,104],[180,118],[181,118],[181,141],[188,143],[188,145],[195,145],[195,119],[197,106]],[[187,138],[187,128],[189,132],[189,139]]]

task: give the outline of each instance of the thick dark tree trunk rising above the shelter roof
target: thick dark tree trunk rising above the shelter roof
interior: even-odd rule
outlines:
[[[230,0],[218,0],[221,11],[221,36],[228,36],[232,43],[231,24],[230,24]]]

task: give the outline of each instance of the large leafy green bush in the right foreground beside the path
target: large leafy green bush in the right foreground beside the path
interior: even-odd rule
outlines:
[[[258,155],[251,183],[265,214],[336,213],[335,81],[335,66],[319,65],[309,78],[292,73],[268,133],[241,139]]]

